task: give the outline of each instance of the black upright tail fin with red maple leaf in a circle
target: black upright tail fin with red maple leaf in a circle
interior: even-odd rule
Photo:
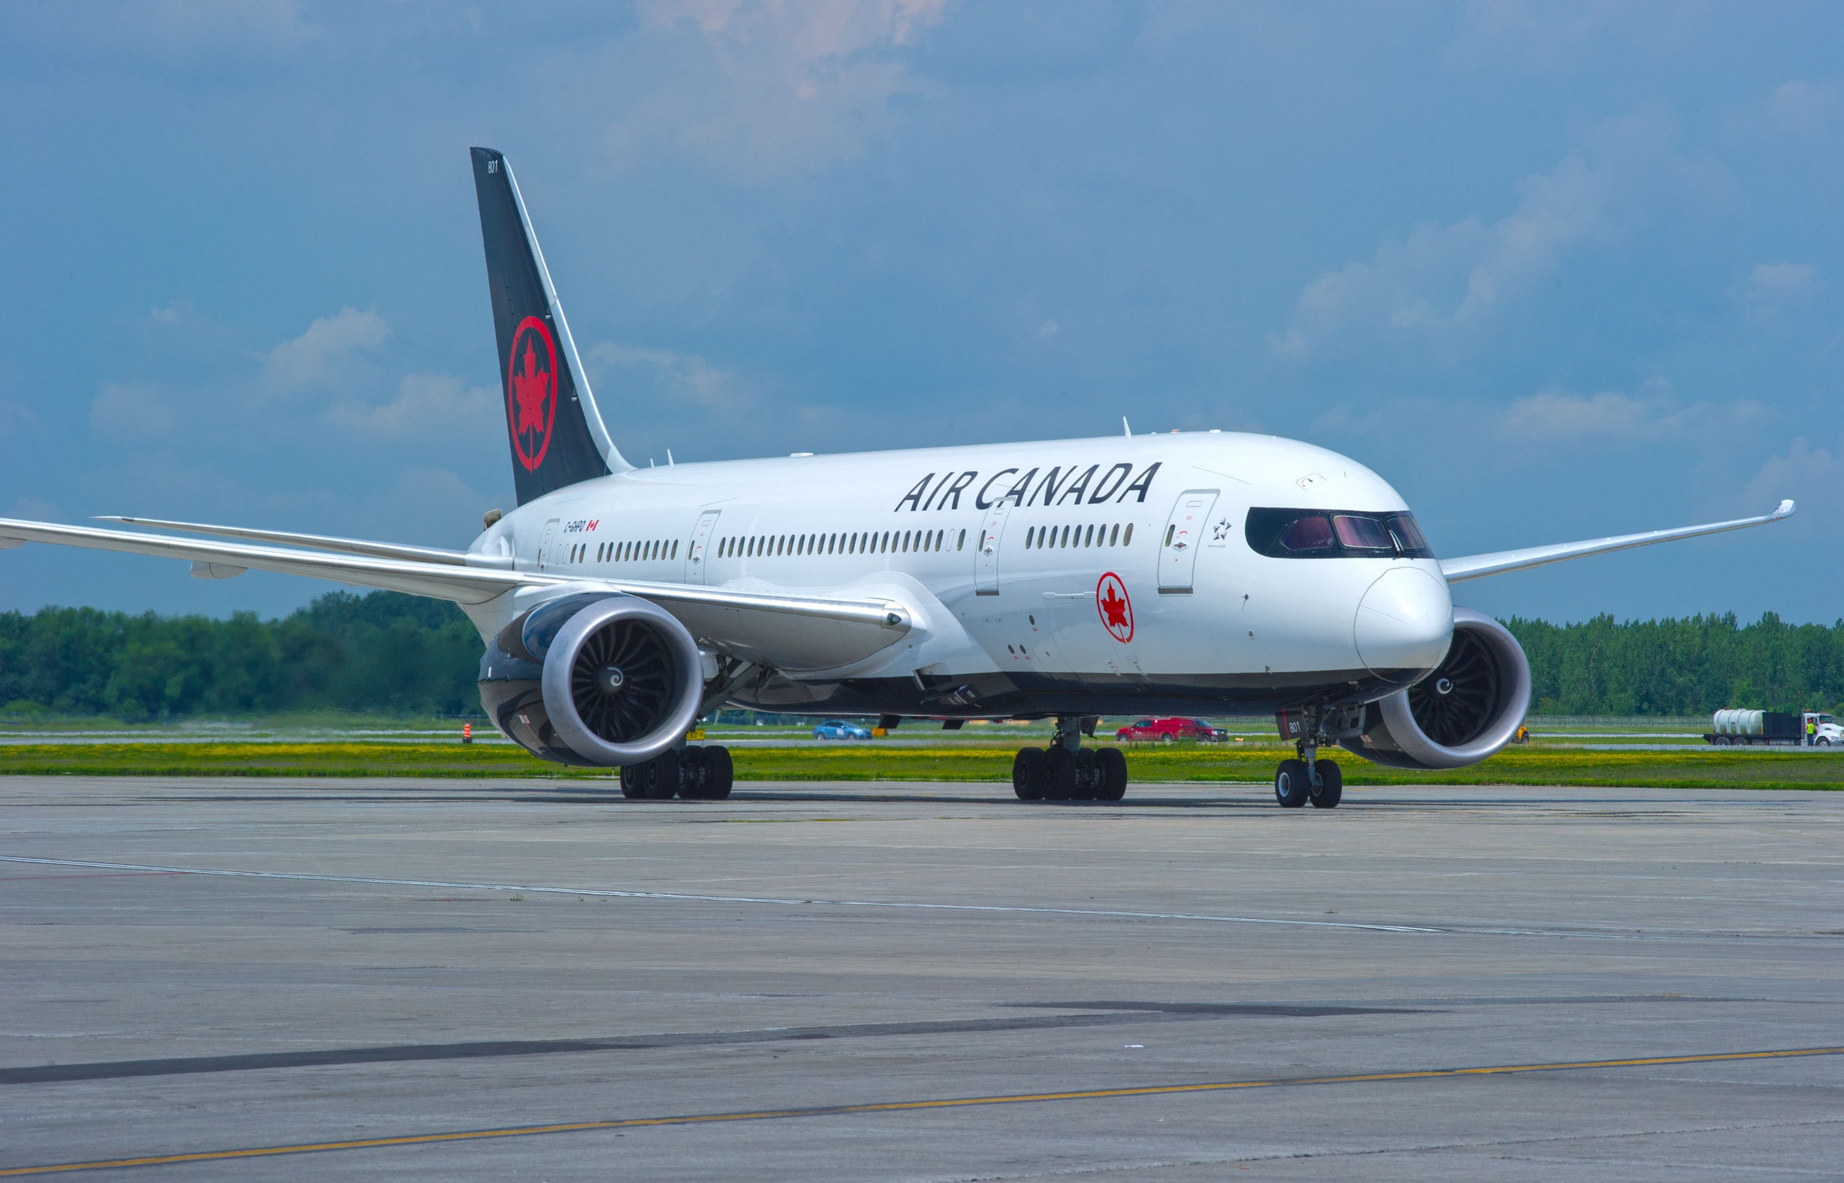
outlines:
[[[474,149],[518,504],[629,465],[609,439],[505,157]]]

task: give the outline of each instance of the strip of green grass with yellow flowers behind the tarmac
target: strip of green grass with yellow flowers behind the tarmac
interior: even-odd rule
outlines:
[[[715,736],[714,736],[715,738]],[[1009,783],[1012,746],[734,747],[738,781],[963,781]],[[1140,783],[1265,783],[1287,755],[1280,744],[1127,749]],[[1558,751],[1516,747],[1459,771],[1400,771],[1357,757],[1339,760],[1346,784],[1584,784],[1636,788],[1844,788],[1844,755],[1791,751]],[[564,768],[511,744],[9,744],[0,775],[138,777],[566,777],[610,779]]]

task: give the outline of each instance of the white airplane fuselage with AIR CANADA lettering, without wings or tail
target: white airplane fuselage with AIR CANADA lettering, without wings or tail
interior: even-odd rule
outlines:
[[[1193,432],[636,469],[520,506],[472,550],[564,578],[909,605],[902,644],[743,699],[773,709],[1271,711],[1383,698],[1440,663],[1438,563],[1267,557],[1250,508],[1407,511],[1335,452]],[[520,607],[468,611],[491,635]],[[977,690],[942,703],[961,685]]]

